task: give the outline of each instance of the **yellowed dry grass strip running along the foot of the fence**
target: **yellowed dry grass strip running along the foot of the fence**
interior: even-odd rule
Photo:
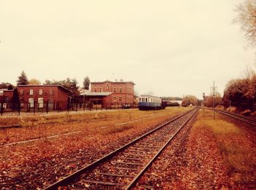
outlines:
[[[86,111],[80,113],[61,113],[49,115],[35,116],[10,116],[8,117],[9,124],[17,124],[17,121],[22,126],[21,128],[10,128],[0,130],[0,144],[12,143],[20,140],[30,140],[34,138],[44,138],[51,135],[59,135],[68,132],[76,132],[83,130],[95,130],[104,128],[101,132],[110,133],[121,132],[127,130],[128,125],[116,126],[115,124],[130,122],[137,119],[150,119],[162,117],[166,119],[174,114],[182,111],[187,111],[188,108],[166,108],[159,111],[138,111],[131,110],[116,110],[116,111]],[[7,123],[7,118],[0,117],[0,126]],[[135,126],[136,127],[135,122]],[[129,124],[130,125],[130,124]],[[132,128],[132,127],[131,127]],[[107,131],[108,130],[108,131]]]

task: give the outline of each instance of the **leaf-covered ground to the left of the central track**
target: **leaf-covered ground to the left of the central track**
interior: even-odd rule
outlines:
[[[172,118],[174,115],[187,110],[185,108],[169,108],[165,111],[135,111],[135,115],[129,114],[129,112],[117,112],[116,115],[112,115],[116,117],[109,120],[108,118],[110,117],[105,115],[106,120],[103,119],[104,121],[91,119],[93,122],[78,121],[72,124],[63,122],[59,125],[50,125],[54,129],[50,128],[46,132],[44,130],[47,125],[42,125],[44,130],[35,125],[34,130],[45,132],[46,135],[56,135],[56,132],[59,131],[75,131],[77,128],[82,132],[50,139],[43,138],[42,140],[11,146],[1,146],[0,188],[34,189],[45,187],[49,183],[58,181],[60,178],[124,145],[129,140],[151,130],[159,123],[165,122],[165,120]],[[99,112],[94,117],[97,118],[100,115]],[[141,116],[143,118],[148,116],[148,118],[143,119],[143,122],[140,120],[117,126],[113,125],[117,122],[140,119]],[[82,116],[79,116],[79,118],[83,119]],[[15,130],[17,133],[15,133]],[[28,130],[26,134],[21,133],[26,130]],[[34,137],[33,126],[29,126],[27,129],[26,127],[12,129],[12,141],[24,138],[30,139],[29,131]],[[22,138],[19,138],[18,134]]]

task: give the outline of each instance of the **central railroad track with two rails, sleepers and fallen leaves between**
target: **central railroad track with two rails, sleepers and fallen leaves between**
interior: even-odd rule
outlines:
[[[130,189],[197,110],[177,116],[45,189]]]

